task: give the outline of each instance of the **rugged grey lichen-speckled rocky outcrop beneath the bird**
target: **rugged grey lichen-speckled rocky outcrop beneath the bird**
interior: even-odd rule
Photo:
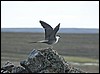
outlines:
[[[62,56],[51,48],[33,49],[28,58],[15,66],[7,62],[1,68],[1,73],[86,73],[71,67]]]

